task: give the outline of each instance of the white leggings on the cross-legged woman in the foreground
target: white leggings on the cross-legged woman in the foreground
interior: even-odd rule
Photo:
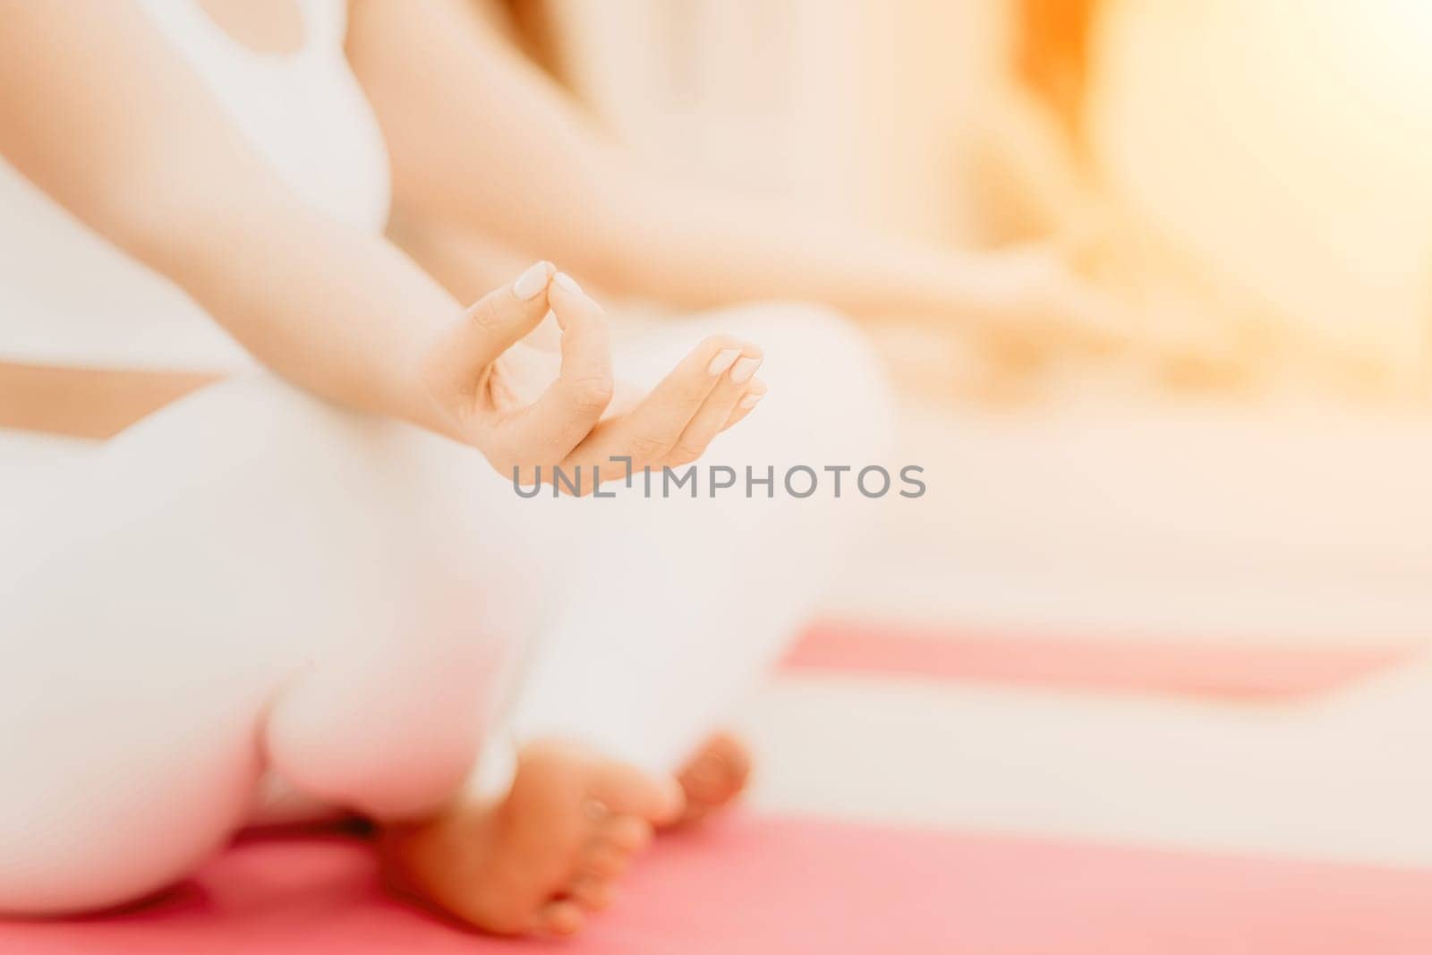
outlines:
[[[793,500],[783,471],[884,462],[888,430],[866,345],[808,306],[672,321],[619,375],[654,381],[713,331],[766,349],[770,392],[713,444],[697,500],[523,498],[471,450],[269,377],[69,468],[0,557],[0,911],[162,888],[272,779],[400,818],[508,735],[673,770],[878,505]],[[706,497],[710,464],[739,485]],[[745,497],[746,465],[775,467],[775,500]]]

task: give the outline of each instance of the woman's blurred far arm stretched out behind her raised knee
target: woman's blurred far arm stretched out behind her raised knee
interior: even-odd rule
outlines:
[[[348,56],[388,139],[391,233],[460,298],[505,248],[679,308],[802,299],[1020,346],[1128,339],[1053,252],[839,235],[644,176],[471,0],[355,0]]]

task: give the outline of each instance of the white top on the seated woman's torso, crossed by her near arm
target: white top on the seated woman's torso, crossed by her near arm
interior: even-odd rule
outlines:
[[[381,233],[382,135],[344,59],[347,0],[298,0],[304,49],[258,53],[195,0],[139,0],[284,182]],[[172,282],[80,225],[0,157],[0,361],[232,371],[252,358]]]

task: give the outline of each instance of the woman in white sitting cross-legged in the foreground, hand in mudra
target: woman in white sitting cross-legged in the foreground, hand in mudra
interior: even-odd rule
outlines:
[[[590,494],[727,430],[748,468],[878,461],[842,312],[1128,339],[1057,258],[643,179],[465,0],[0,20],[3,912],[132,902],[246,823],[355,812],[395,889],[577,931],[653,829],[739,793],[717,726],[861,511],[511,485]],[[686,316],[613,348],[569,272]]]

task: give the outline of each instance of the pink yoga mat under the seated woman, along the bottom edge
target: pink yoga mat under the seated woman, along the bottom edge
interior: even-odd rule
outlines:
[[[390,901],[339,838],[243,840],[147,908],[0,924],[4,955],[1426,955],[1432,873],[819,822],[669,836],[573,942]]]

